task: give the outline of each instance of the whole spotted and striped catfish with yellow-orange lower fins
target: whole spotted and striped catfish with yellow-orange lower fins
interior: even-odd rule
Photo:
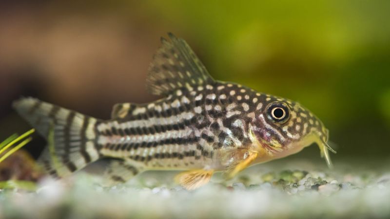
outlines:
[[[14,109],[46,140],[39,164],[64,178],[100,159],[106,185],[147,170],[181,170],[188,190],[254,164],[283,158],[316,143],[331,166],[329,131],[301,104],[233,82],[215,80],[182,38],[161,37],[147,90],[160,99],[118,103],[102,120],[33,97]]]

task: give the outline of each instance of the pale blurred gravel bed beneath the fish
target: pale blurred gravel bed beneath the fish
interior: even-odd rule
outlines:
[[[195,191],[175,185],[175,172],[111,188],[81,173],[45,180],[35,192],[0,191],[0,218],[389,218],[390,172],[381,166],[272,162]]]

